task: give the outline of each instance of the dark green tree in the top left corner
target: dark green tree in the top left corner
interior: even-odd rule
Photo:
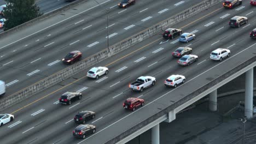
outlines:
[[[4,23],[4,30],[21,25],[40,15],[39,7],[35,0],[5,0],[7,7],[4,9],[4,17],[7,19]]]

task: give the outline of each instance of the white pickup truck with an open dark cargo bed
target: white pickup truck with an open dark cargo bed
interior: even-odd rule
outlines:
[[[129,87],[133,91],[143,91],[144,88],[154,86],[155,77],[152,76],[140,76],[135,82],[130,83]]]

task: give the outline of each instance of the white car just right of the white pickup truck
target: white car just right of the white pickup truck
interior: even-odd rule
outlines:
[[[165,86],[172,86],[176,88],[177,85],[184,83],[185,80],[186,78],[183,75],[171,75],[165,80]]]

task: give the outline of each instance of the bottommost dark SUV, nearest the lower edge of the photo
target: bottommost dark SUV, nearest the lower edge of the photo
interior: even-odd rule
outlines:
[[[73,130],[73,136],[78,138],[85,138],[86,135],[93,134],[96,131],[96,126],[90,124],[80,124]]]

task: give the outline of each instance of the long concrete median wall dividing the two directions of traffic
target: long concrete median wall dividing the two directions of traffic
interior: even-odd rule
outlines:
[[[82,0],[81,0],[82,1]],[[56,85],[56,83],[59,83],[68,77],[71,77],[74,74],[79,73],[80,71],[91,67],[92,65],[103,61],[104,59],[113,56],[117,54],[120,51],[123,51],[127,48],[129,48],[132,45],[135,45],[139,43],[140,41],[147,39],[154,34],[158,34],[162,28],[167,28],[170,27],[184,19],[187,19],[190,16],[193,16],[197,13],[199,13],[202,10],[205,10],[206,8],[211,7],[212,5],[220,2],[222,0],[206,0],[203,1],[197,5],[194,5],[193,7],[182,11],[181,13],[174,15],[170,17],[169,19],[159,22],[158,24],[149,27],[145,29],[142,32],[139,32],[135,35],[132,35],[130,38],[127,38],[125,40],[120,41],[119,43],[110,46],[109,50],[105,49],[102,50],[101,52],[96,53],[95,55],[88,57],[86,59],[83,59],[83,61],[72,65],[71,67],[68,67],[66,69],[63,69],[59,71],[58,73],[55,73],[37,83],[34,83],[31,86],[28,86],[27,88],[22,89],[19,92],[16,92],[7,98],[4,98],[3,100],[0,101],[0,111],[6,109],[7,107],[14,105],[18,103],[21,100],[24,100],[28,97],[30,97],[33,94],[36,94],[40,91],[43,91],[44,89]]]

